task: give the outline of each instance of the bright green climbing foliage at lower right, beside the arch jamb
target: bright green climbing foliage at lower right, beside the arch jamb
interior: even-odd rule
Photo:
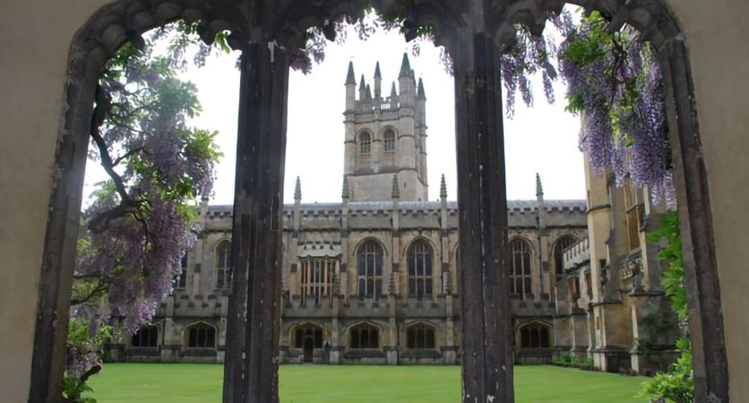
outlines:
[[[664,242],[658,253],[661,262],[668,267],[663,272],[661,284],[666,295],[671,300],[671,306],[681,322],[681,328],[686,335],[686,319],[688,315],[686,304],[686,289],[684,288],[684,262],[682,260],[681,235],[679,233],[678,211],[664,214],[659,229],[648,234],[650,242]],[[641,397],[670,399],[676,403],[693,401],[694,380],[692,373],[692,346],[687,337],[676,340],[676,348],[681,350],[676,363],[671,364],[666,373],[657,373],[652,379],[642,382]]]

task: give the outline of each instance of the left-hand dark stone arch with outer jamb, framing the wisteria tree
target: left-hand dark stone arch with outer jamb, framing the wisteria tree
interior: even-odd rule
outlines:
[[[44,242],[39,303],[31,358],[30,401],[57,394],[62,387],[65,366],[65,331],[46,331],[51,323],[66,322],[73,281],[73,255],[77,231],[71,230],[80,217],[89,127],[94,95],[104,64],[125,41],[142,43],[141,34],[168,22],[184,19],[202,21],[202,39],[212,41],[215,33],[230,30],[237,44],[245,39],[248,25],[236,7],[209,0],[157,0],[151,4],[117,1],[102,6],[76,31],[70,51],[61,129],[57,136],[55,180],[49,200],[47,236]]]

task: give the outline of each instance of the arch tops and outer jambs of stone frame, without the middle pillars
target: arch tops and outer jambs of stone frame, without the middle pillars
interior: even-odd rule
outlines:
[[[70,50],[70,80],[65,89],[64,102],[67,109],[58,135],[54,169],[57,174],[49,202],[39,279],[41,286],[31,364],[30,399],[45,399],[50,390],[54,393],[59,388],[55,377],[61,377],[59,368],[62,368],[65,358],[65,332],[46,330],[51,323],[67,317],[65,301],[69,299],[73,264],[63,256],[74,253],[75,231],[70,223],[77,223],[80,214],[78,206],[81,204],[93,90],[103,64],[126,39],[137,41],[142,32],[179,18],[205,21],[202,23],[202,36],[208,40],[212,37],[211,33],[231,30],[230,43],[234,46],[246,42],[245,32],[250,27],[260,27],[265,30],[263,33],[266,37],[270,35],[268,32],[273,32],[272,37],[268,38],[278,38],[288,45],[301,40],[306,28],[321,26],[326,19],[334,20],[341,15],[357,15],[365,5],[344,0],[310,2],[301,6],[297,3],[290,0],[280,2],[277,9],[281,12],[271,16],[273,21],[263,21],[261,26],[257,21],[251,23],[245,18],[255,10],[218,0],[154,0],[149,3],[122,0],[103,6],[76,33]],[[416,15],[418,24],[434,25],[438,29],[435,43],[446,45],[448,50],[455,48],[456,32],[466,24],[460,19],[469,18],[469,2],[427,0],[418,6],[405,0],[376,0],[372,3],[386,15],[412,13]],[[701,393],[709,389],[719,393],[721,399],[727,399],[726,351],[710,196],[701,157],[692,72],[682,31],[664,0],[572,0],[570,3],[607,13],[612,16],[615,27],[629,23],[659,49],[659,60],[667,81],[668,121],[677,157],[678,203],[686,216],[682,219],[682,232],[691,235],[684,240],[683,251],[687,288],[691,304],[695,304],[693,313],[696,314],[692,319],[701,324],[699,331],[693,331],[693,339],[695,349],[700,353],[696,356],[707,357],[704,363],[695,360],[695,384],[698,389],[695,396],[703,396]],[[540,32],[546,21],[544,12],[558,9],[563,4],[556,1],[515,0],[504,7],[495,7],[494,13],[483,18],[495,43],[501,45],[512,37],[512,24],[522,23]],[[297,8],[294,8],[295,5]],[[258,19],[258,16],[253,14],[253,18]],[[690,214],[698,211],[702,213]],[[701,270],[697,272],[695,266]],[[709,367],[707,375],[705,364]],[[704,379],[706,376],[709,378],[707,381]],[[708,384],[709,388],[706,386]]]

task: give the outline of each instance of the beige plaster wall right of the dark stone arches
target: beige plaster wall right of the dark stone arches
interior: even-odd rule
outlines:
[[[669,0],[684,30],[692,67],[702,156],[710,204],[725,325],[731,401],[749,396],[749,3],[742,0]]]

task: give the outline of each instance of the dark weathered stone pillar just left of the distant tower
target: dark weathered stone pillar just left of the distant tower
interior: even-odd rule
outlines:
[[[289,62],[280,47],[243,50],[223,401],[278,402]]]

